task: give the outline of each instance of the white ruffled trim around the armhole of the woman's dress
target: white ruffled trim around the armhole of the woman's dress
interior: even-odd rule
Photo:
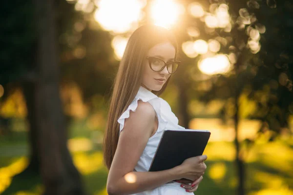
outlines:
[[[165,127],[167,125],[167,120],[163,119],[163,117],[162,117],[161,98],[158,98],[155,95],[153,97],[136,96],[134,98],[134,100],[130,103],[130,105],[128,106],[126,111],[117,120],[118,123],[120,124],[120,131],[119,132],[121,132],[123,130],[125,119],[129,117],[130,111],[135,112],[135,110],[136,110],[136,108],[138,106],[138,101],[139,100],[142,100],[143,102],[150,103],[150,105],[152,105],[152,107],[154,108],[154,110],[155,110],[155,112],[157,114],[157,117],[158,117],[158,121],[159,121],[157,132],[162,131],[163,129],[165,129]],[[156,132],[156,134],[157,134],[157,132]]]

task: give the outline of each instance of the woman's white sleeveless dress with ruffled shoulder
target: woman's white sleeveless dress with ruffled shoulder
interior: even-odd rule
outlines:
[[[133,171],[148,171],[152,159],[157,150],[159,141],[162,137],[164,130],[167,129],[185,129],[178,125],[178,118],[171,111],[171,108],[167,101],[162,98],[159,98],[152,92],[148,91],[146,88],[140,86],[139,91],[133,101],[130,103],[126,111],[121,115],[118,119],[120,123],[120,132],[123,130],[125,119],[129,117],[130,110],[135,111],[138,105],[138,100],[142,100],[144,102],[148,102],[154,108],[159,125],[156,133],[150,137],[147,141],[146,148],[140,159],[138,160]],[[144,191],[138,194],[133,195],[191,195],[192,193],[188,193],[184,188],[180,187],[180,183],[175,181],[170,181],[162,186],[154,188],[152,190]]]

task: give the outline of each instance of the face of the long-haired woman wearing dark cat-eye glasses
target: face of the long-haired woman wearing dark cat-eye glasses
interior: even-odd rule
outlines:
[[[170,42],[156,44],[148,50],[147,57],[156,57],[158,59],[162,59],[166,63],[174,61],[175,47]],[[143,87],[150,91],[160,91],[169,77],[170,74],[167,71],[167,66],[160,72],[155,72],[149,67],[148,60],[145,59],[142,81]],[[161,79],[162,81],[158,79]]]

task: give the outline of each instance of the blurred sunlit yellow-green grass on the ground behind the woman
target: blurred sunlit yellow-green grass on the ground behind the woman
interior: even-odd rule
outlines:
[[[70,149],[87,194],[106,195],[107,170],[102,163],[101,145],[92,142],[92,132],[86,128],[85,121],[74,122],[69,127]],[[32,173],[17,175],[27,165],[27,154],[26,132],[13,132],[9,138],[0,137],[0,193],[3,195],[42,193],[40,176]],[[235,195],[237,177],[233,144],[210,142],[205,154],[208,155],[208,169],[195,194]],[[256,144],[246,153],[246,161],[247,195],[293,195],[293,140]]]

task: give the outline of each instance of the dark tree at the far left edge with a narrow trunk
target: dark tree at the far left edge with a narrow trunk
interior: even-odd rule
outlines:
[[[33,91],[29,88],[30,83],[35,79],[35,75],[30,72],[34,62],[35,53],[35,30],[33,19],[33,8],[31,1],[7,1],[1,6],[2,17],[0,23],[1,42],[0,49],[0,84],[4,87],[4,94],[0,101],[4,102],[13,94],[14,90],[21,87],[21,82],[27,87],[24,94],[27,95],[26,103],[28,107],[33,106]],[[7,11],[9,10],[9,11]],[[28,86],[29,85],[29,86]],[[28,90],[26,90],[28,89]],[[1,106],[1,104],[0,104]],[[30,122],[29,138],[31,140],[30,165],[27,170],[38,173],[39,157],[37,152],[36,120],[33,109],[28,109],[28,119]],[[8,119],[8,118],[7,118]]]

